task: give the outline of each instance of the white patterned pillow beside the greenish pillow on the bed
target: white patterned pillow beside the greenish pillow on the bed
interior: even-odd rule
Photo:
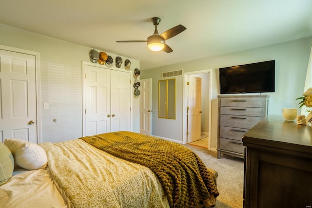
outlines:
[[[45,169],[48,158],[42,147],[39,145],[20,140],[6,139],[4,144],[13,154],[15,164],[27,170]]]

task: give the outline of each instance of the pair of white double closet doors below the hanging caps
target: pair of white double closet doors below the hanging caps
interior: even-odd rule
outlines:
[[[130,73],[85,65],[85,133],[131,131]]]

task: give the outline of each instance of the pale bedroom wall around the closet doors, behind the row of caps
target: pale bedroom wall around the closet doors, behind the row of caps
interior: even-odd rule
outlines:
[[[81,66],[82,61],[90,63],[89,51],[92,48],[21,30],[5,24],[0,24],[0,34],[0,45],[40,53],[41,102],[39,108],[42,122],[42,142],[59,142],[81,137]],[[98,52],[102,51],[97,50]],[[115,58],[118,55],[107,53],[114,58],[115,65]],[[127,57],[122,57],[122,59],[125,61]],[[132,63],[132,71],[135,68],[139,68],[138,60],[129,59]],[[114,68],[117,69],[116,67],[110,69]],[[43,102],[49,102],[49,109],[43,109]],[[53,122],[54,118],[57,118],[58,121]],[[132,118],[135,121],[133,122],[133,131],[139,132],[139,123],[137,122],[139,120],[139,99],[136,98],[133,98]]]

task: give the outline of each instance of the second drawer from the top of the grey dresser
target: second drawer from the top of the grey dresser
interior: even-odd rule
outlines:
[[[221,114],[228,115],[251,115],[261,116],[262,108],[250,108],[250,107],[221,107]]]

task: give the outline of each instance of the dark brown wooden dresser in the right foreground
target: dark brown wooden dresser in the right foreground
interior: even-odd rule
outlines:
[[[312,127],[268,115],[243,136],[245,208],[312,207]]]

